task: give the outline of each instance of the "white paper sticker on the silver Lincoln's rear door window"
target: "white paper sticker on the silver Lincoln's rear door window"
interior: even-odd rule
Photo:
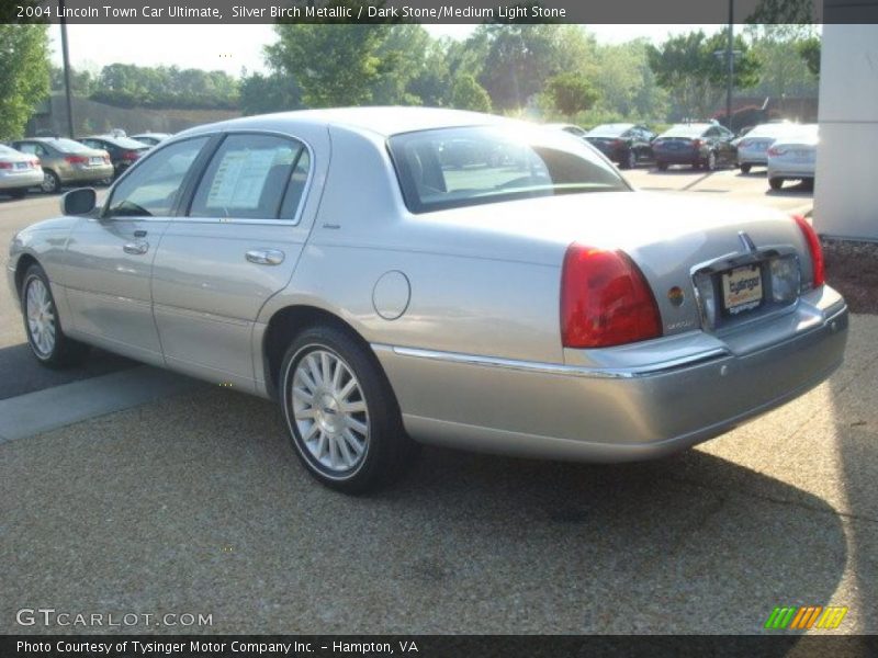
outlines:
[[[207,206],[240,209],[259,207],[274,156],[274,149],[228,151],[216,170],[207,194]]]

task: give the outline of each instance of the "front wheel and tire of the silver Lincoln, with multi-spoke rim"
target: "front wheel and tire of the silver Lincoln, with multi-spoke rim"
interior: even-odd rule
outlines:
[[[41,364],[57,370],[82,362],[89,347],[64,332],[48,277],[40,265],[31,265],[24,274],[21,309],[31,353]]]

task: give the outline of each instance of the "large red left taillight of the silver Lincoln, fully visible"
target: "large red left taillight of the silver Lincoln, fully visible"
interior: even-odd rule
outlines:
[[[662,334],[646,280],[621,251],[573,243],[561,273],[561,342],[608,348]]]

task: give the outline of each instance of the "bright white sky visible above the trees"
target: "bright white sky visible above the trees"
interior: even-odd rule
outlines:
[[[434,36],[465,38],[475,25],[425,25]],[[668,34],[718,25],[588,25],[599,42],[622,43],[639,36],[661,42]],[[50,29],[53,60],[60,65],[60,27]],[[100,69],[113,64],[172,66],[240,73],[264,71],[262,47],[274,42],[271,25],[69,25],[70,64]]]

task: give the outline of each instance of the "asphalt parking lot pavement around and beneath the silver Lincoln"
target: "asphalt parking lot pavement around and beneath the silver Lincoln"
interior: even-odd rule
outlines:
[[[810,208],[810,193],[769,193],[759,173],[628,178]],[[0,198],[0,242],[56,207]],[[40,371],[4,285],[0,321],[8,409],[63,418],[71,390],[154,376],[108,354]],[[843,605],[838,633],[876,633],[876,340],[878,316],[854,316],[828,383],[669,458],[426,449],[403,483],[364,498],[311,480],[271,404],[172,376],[167,395],[0,438],[0,632],[69,631],[15,623],[22,608],[54,608],[212,615],[121,628],[144,633],[753,634],[777,605]]]

